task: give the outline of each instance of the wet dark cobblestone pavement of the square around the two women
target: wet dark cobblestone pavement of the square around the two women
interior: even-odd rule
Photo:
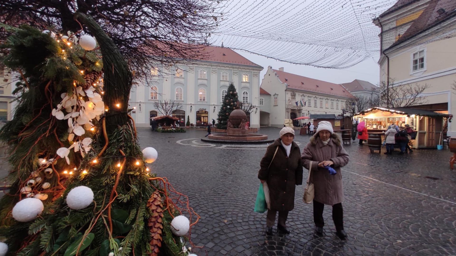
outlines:
[[[278,128],[260,133],[277,138]],[[342,169],[344,225],[335,236],[326,206],[322,237],[314,235],[312,205],[298,186],[287,236],[264,234],[265,214],[253,211],[259,161],[266,145],[203,143],[205,131],[151,133],[139,130],[142,148],[154,147],[152,171],[190,197],[201,220],[192,228],[197,255],[456,255],[456,172],[448,150],[412,154],[369,153],[367,145],[346,145],[350,163]],[[308,136],[296,135],[300,148]],[[382,152],[383,153],[383,152]],[[304,171],[306,177],[307,171]]]

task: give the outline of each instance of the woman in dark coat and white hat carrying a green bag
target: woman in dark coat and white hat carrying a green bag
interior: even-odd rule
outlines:
[[[295,186],[302,184],[301,151],[293,142],[293,138],[295,138],[293,128],[282,128],[280,138],[268,146],[260,162],[258,179],[261,183],[268,184],[271,200],[266,215],[268,235],[272,234],[277,211],[279,212],[277,230],[283,234],[290,234],[286,229],[286,219],[288,212],[295,207]]]

